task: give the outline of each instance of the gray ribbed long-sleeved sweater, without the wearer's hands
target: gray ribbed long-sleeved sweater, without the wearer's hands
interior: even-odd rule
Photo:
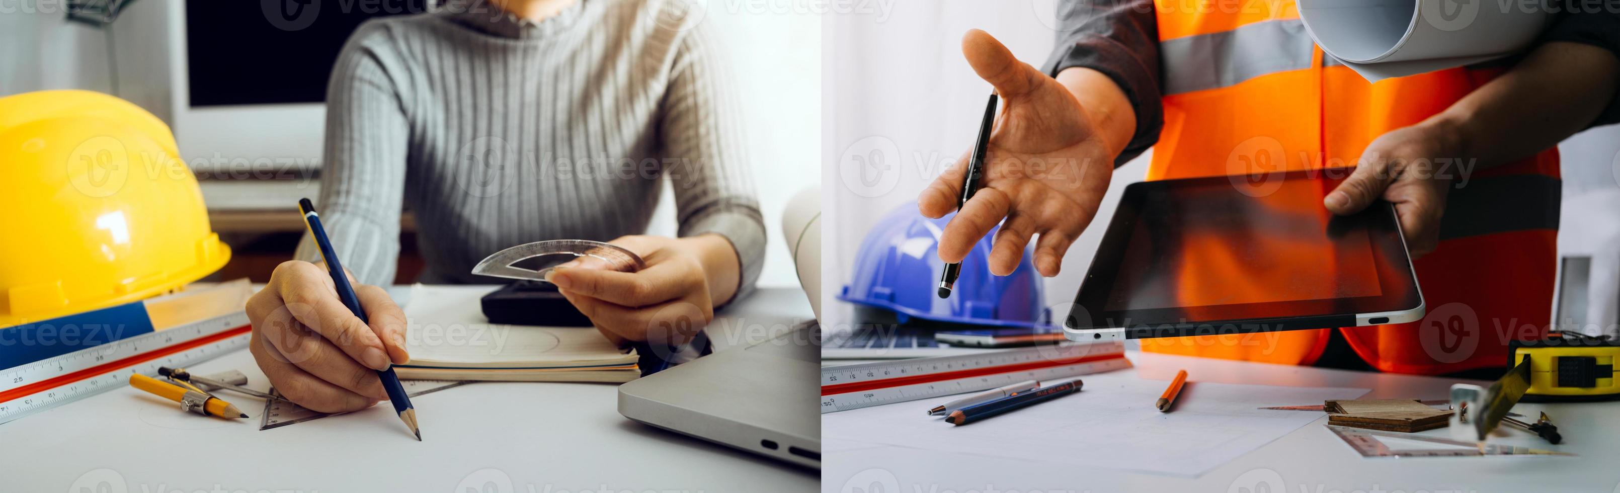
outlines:
[[[463,0],[363,24],[332,70],[318,203],[343,264],[392,282],[403,206],[423,282],[499,281],[468,271],[518,243],[645,232],[667,180],[679,235],[729,238],[750,290],[765,224],[744,123],[682,5],[580,0],[531,23]],[[319,259],[308,235],[296,258]]]

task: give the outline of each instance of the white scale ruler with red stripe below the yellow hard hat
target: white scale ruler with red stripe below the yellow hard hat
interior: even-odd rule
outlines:
[[[248,345],[248,313],[237,311],[81,349],[0,373],[0,423],[190,367]]]

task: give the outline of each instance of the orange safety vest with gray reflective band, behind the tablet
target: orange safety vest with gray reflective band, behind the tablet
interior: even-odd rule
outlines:
[[[1502,71],[1453,68],[1374,84],[1315,47],[1293,0],[1155,0],[1155,6],[1165,126],[1149,180],[1353,167],[1374,138],[1439,114]],[[1547,331],[1557,149],[1474,167],[1456,185],[1463,186],[1448,193],[1439,248],[1414,264],[1424,319],[1340,329],[1382,371],[1500,367],[1508,341]],[[1288,242],[1283,234],[1275,240]],[[1183,272],[1183,279],[1223,276],[1228,290],[1277,285],[1241,256],[1221,258],[1218,248],[1200,255],[1213,258],[1199,266],[1230,264],[1231,272]],[[1144,339],[1142,350],[1309,365],[1327,347],[1327,331]]]

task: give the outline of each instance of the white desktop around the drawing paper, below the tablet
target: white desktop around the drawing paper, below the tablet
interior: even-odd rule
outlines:
[[[1443,399],[1456,379],[1309,367],[1281,367],[1129,352],[1142,378],[1168,381],[1187,368],[1192,381],[1372,389],[1362,399]],[[1079,397],[1079,396],[1077,396]],[[1076,397],[1071,397],[1076,399]],[[891,404],[914,405],[927,402]],[[1312,402],[1299,402],[1312,404]],[[1197,478],[1162,477],[1051,462],[998,459],[938,449],[823,441],[823,491],[1620,491],[1620,402],[1520,404],[1547,410],[1563,444],[1508,430],[1492,441],[1578,457],[1362,459],[1322,427],[1327,417]],[[1009,414],[1001,418],[1016,418]],[[825,431],[825,430],[823,430]],[[1424,435],[1450,438],[1447,430]],[[1278,490],[1277,485],[1283,488]],[[852,490],[854,488],[854,490]]]

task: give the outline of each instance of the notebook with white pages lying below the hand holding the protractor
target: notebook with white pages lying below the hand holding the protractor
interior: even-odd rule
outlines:
[[[411,285],[405,303],[403,379],[604,381],[642,375],[638,355],[593,328],[489,323],[478,300],[491,285]]]

